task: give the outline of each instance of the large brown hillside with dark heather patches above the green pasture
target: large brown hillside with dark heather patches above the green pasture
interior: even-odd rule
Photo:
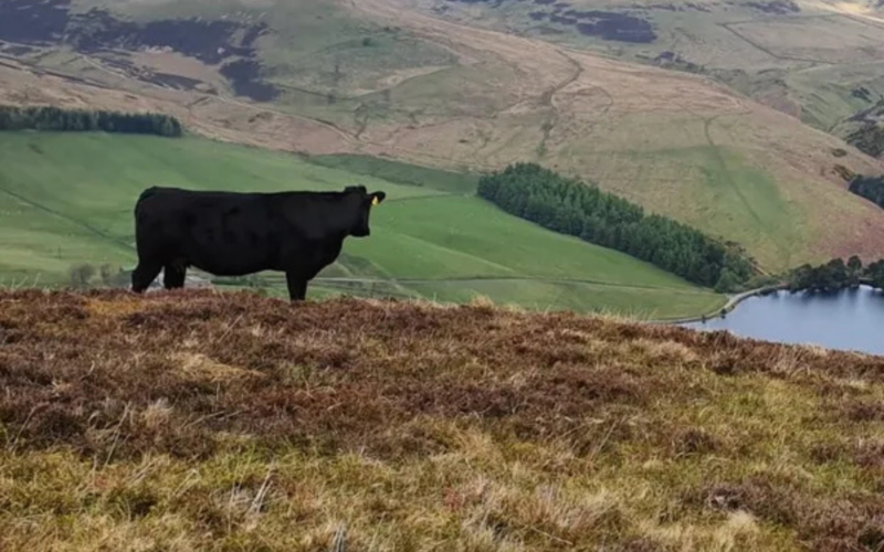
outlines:
[[[538,160],[737,241],[771,269],[884,254],[884,213],[834,171],[884,172],[881,161],[704,77],[442,21],[408,0],[72,6],[63,49],[0,33],[27,43],[6,49],[18,62],[0,66],[0,100],[152,107],[222,139],[438,167]],[[185,31],[194,43],[162,49]]]

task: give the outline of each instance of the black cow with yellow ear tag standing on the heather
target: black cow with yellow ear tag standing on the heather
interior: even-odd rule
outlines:
[[[183,287],[189,266],[215,276],[282,270],[290,299],[303,300],[307,282],[337,258],[344,238],[371,233],[369,212],[386,197],[364,185],[278,193],[148,188],[135,204],[131,289],[143,293],[160,270],[166,289]]]

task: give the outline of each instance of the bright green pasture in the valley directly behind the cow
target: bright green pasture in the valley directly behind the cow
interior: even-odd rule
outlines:
[[[6,200],[0,206],[6,238],[0,275],[30,280],[40,274],[42,283],[59,283],[73,263],[131,266],[131,209],[147,185],[340,190],[355,182],[387,191],[389,201],[372,214],[372,236],[348,241],[324,278],[419,280],[390,284],[383,291],[443,301],[482,293],[538,308],[659,317],[707,312],[724,302],[649,264],[464,197],[475,182],[469,177],[459,180],[425,169],[408,174],[403,166],[366,158],[314,163],[191,138],[0,135],[0,194]],[[283,288],[277,276],[269,279],[277,291]],[[317,294],[366,291],[373,285],[351,282],[343,289],[336,282],[316,284]]]

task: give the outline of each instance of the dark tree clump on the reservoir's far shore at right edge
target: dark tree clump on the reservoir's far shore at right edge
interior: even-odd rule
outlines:
[[[855,255],[846,263],[843,258],[833,258],[820,266],[801,265],[788,277],[791,291],[836,291],[860,284],[884,289],[884,259],[863,266]]]

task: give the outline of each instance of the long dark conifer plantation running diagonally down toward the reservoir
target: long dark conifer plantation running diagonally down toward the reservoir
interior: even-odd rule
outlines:
[[[477,194],[509,214],[546,229],[620,251],[718,291],[739,289],[755,275],[735,244],[644,210],[596,185],[536,163],[515,163],[483,176]]]

